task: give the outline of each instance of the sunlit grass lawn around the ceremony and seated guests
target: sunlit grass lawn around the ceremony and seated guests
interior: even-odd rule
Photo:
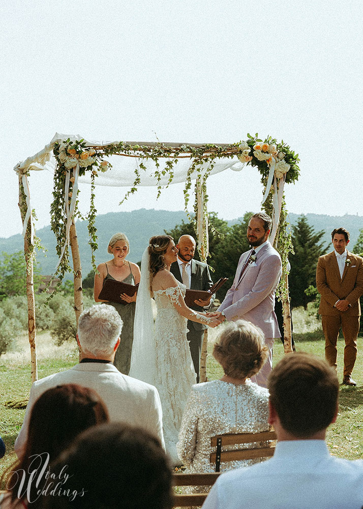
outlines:
[[[208,344],[207,376],[214,380],[223,376],[220,365],[211,355],[216,333],[211,334]],[[324,341],[321,333],[296,333],[296,350],[304,351],[324,357]],[[312,341],[312,337],[316,339]],[[307,341],[303,341],[307,340]],[[67,370],[78,362],[78,351],[75,345],[66,344],[62,347],[51,346],[51,340],[46,334],[38,336],[38,378],[43,378],[58,371]],[[22,338],[23,350],[26,352],[26,337]],[[44,349],[44,350],[43,350]],[[338,377],[343,378],[343,350],[344,341],[338,343]],[[42,352],[46,353],[42,353]],[[284,355],[280,340],[274,346],[274,364]],[[3,437],[7,453],[0,460],[0,475],[15,460],[14,441],[20,430],[24,417],[24,409],[10,408],[8,401],[18,401],[28,398],[31,387],[29,362],[24,355],[20,358],[15,354],[0,357],[0,435]],[[340,412],[337,422],[328,429],[327,443],[332,454],[347,458],[363,458],[363,338],[358,337],[358,357],[355,363],[353,378],[357,387],[341,386]]]

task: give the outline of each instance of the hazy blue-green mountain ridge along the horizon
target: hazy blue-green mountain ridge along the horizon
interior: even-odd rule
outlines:
[[[288,219],[291,224],[296,224],[301,214],[290,213]],[[325,232],[322,240],[326,244],[331,243],[330,232],[334,228],[343,227],[350,233],[349,247],[352,250],[359,235],[359,230],[363,228],[363,217],[345,214],[344,216],[329,216],[325,214],[306,214],[309,224],[316,232],[323,230]],[[229,225],[238,222],[242,217],[228,221]],[[222,218],[223,219],[223,218]],[[142,253],[147,246],[148,240],[153,235],[162,235],[164,230],[171,230],[175,225],[188,222],[184,211],[139,209],[132,212],[109,212],[108,214],[99,214],[96,219],[96,228],[98,235],[98,250],[96,251],[96,263],[100,264],[110,259],[107,253],[107,245],[111,236],[116,232],[123,232],[130,241],[129,260],[139,262]],[[77,236],[79,250],[81,255],[82,275],[85,277],[92,268],[90,263],[90,247],[88,244],[87,222],[77,220]],[[54,272],[57,264],[55,252],[55,238],[50,226],[37,231],[42,245],[48,249],[46,256],[38,253],[37,260],[40,264],[41,273],[49,275]],[[177,239],[176,239],[177,240]],[[331,244],[330,244],[331,245]],[[21,235],[13,235],[7,239],[0,238],[0,252],[13,253],[23,249],[23,239]],[[330,246],[328,250],[330,249]]]

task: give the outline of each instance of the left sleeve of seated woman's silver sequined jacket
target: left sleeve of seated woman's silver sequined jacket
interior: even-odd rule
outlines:
[[[196,392],[192,389],[189,400],[185,406],[182,425],[179,431],[179,441],[176,444],[176,450],[179,458],[186,466],[189,466],[194,459],[195,446],[197,443],[198,426],[198,401]]]

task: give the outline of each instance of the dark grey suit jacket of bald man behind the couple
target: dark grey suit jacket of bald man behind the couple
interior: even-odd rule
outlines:
[[[180,269],[177,262],[171,264],[170,272],[174,275],[175,279],[177,279],[180,282],[183,282],[182,274],[180,274]],[[190,289],[207,291],[212,286],[213,281],[211,280],[210,277],[208,265],[203,262],[198,262],[197,260],[192,260],[192,276]],[[203,312],[204,310],[209,309],[209,307],[213,304],[215,297],[216,295],[213,294],[210,299],[209,306],[203,308],[201,306],[194,305],[192,306],[192,309],[199,312]],[[188,329],[191,330],[191,328],[195,330],[204,330],[207,328],[207,326],[201,323],[191,322],[190,320],[188,320]]]

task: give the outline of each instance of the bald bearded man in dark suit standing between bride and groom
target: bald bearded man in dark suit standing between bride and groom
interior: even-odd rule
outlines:
[[[170,272],[175,278],[182,282],[187,289],[207,291],[213,286],[208,265],[194,260],[196,243],[190,235],[182,235],[176,244],[178,249],[177,261],[171,264]],[[208,310],[214,302],[215,295],[212,294],[207,300],[196,300],[190,306],[199,313]],[[202,353],[203,333],[207,326],[188,320],[188,341],[192,355],[197,383],[199,383],[200,356]]]

